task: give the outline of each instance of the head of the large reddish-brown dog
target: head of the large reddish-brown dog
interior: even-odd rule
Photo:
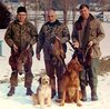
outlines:
[[[82,70],[82,66],[80,65],[80,62],[78,61],[78,59],[72,59],[68,63],[68,71],[71,72],[72,70],[74,70],[77,72],[79,72],[79,71]]]

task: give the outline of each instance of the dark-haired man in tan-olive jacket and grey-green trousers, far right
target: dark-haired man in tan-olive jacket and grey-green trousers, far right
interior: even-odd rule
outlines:
[[[81,4],[80,17],[74,23],[72,33],[73,46],[83,52],[83,71],[80,72],[80,85],[82,91],[82,100],[87,100],[86,85],[87,81],[91,88],[91,100],[98,100],[98,67],[101,56],[99,42],[104,38],[103,28],[98,19],[89,11],[87,4]],[[90,52],[89,52],[90,51]],[[89,57],[88,57],[89,53]]]

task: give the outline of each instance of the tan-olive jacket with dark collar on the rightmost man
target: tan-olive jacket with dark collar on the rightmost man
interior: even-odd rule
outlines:
[[[104,38],[104,31],[101,22],[90,13],[83,31],[82,21],[82,17],[79,17],[78,21],[74,23],[72,40],[79,41],[80,48],[84,50],[88,49],[88,42],[93,41],[92,58],[99,58],[101,56],[99,42]]]

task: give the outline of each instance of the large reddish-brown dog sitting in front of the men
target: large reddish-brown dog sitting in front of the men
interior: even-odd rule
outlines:
[[[66,72],[62,75],[60,82],[61,99],[58,101],[60,106],[64,106],[64,102],[77,102],[77,106],[81,106],[80,99],[82,97],[79,80],[79,72],[82,70],[82,66],[78,59],[71,59],[67,66]]]

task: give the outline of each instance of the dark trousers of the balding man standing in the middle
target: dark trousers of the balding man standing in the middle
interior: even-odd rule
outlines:
[[[63,65],[53,65],[51,60],[46,60],[44,62],[46,62],[47,75],[50,77],[52,95],[56,93],[58,89],[58,96],[60,98],[61,92],[59,86],[60,86],[61,76],[63,73]]]

